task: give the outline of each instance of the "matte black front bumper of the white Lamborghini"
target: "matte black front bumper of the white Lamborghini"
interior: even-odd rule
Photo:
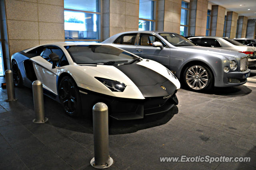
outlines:
[[[80,96],[82,101],[83,111],[92,113],[92,107],[97,102],[104,102],[109,109],[109,116],[117,120],[133,120],[144,118],[144,115],[158,114],[166,112],[172,106],[178,104],[176,92],[170,96],[150,97],[145,99],[127,99],[108,96],[82,88]]]

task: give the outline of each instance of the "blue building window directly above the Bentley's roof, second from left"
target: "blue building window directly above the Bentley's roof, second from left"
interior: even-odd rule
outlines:
[[[154,0],[140,0],[139,31],[155,30],[155,3]]]

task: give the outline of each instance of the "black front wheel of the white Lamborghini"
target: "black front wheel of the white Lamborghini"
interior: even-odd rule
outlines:
[[[82,106],[76,82],[70,77],[65,76],[59,85],[59,98],[66,114],[72,117],[81,115]]]

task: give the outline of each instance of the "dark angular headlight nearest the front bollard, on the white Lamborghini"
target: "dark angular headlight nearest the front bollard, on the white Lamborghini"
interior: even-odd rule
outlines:
[[[95,77],[95,78],[100,82],[102,82],[112,92],[123,92],[124,89],[126,88],[126,85],[124,83],[121,83],[115,80],[110,80],[110,79],[100,78],[100,77]]]

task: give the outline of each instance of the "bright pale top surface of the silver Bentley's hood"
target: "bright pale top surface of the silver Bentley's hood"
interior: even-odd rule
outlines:
[[[192,51],[192,52],[208,54],[208,55],[209,54],[218,54],[218,55],[234,57],[237,54],[239,54],[239,52],[236,52],[236,51],[222,50],[220,48],[211,48],[211,47],[202,47],[202,46],[182,46],[180,48],[189,48],[189,49],[191,49],[190,51]]]

